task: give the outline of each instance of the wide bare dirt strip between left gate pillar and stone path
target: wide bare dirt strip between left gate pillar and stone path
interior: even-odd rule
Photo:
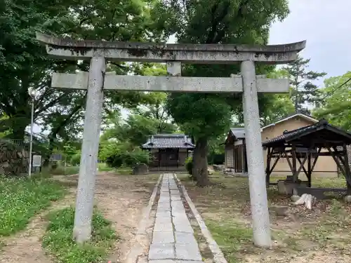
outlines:
[[[112,222],[119,241],[109,260],[123,262],[133,245],[133,237],[143,208],[150,199],[159,175],[117,175],[99,173],[95,201],[102,214]],[[56,177],[69,186],[77,186],[78,175]]]

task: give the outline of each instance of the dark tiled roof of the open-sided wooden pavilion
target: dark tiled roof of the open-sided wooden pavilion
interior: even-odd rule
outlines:
[[[329,136],[332,134],[333,140],[343,140],[345,144],[351,144],[351,133],[347,133],[345,130],[341,130],[340,128],[332,126],[326,120],[323,119],[310,126],[305,126],[302,128],[298,128],[296,130],[286,131],[282,135],[279,135],[278,137],[274,137],[272,139],[266,140],[265,142],[263,142],[262,145],[264,147],[270,147],[277,144],[284,144],[285,142],[298,140],[299,138],[302,138],[307,135],[311,135],[312,133],[316,133],[321,130],[328,130]],[[321,137],[323,139],[323,136]]]

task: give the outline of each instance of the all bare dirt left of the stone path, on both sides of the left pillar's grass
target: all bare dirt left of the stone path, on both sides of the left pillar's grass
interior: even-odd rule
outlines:
[[[96,178],[95,201],[105,217],[112,222],[119,241],[112,251],[110,260],[122,262],[129,249],[140,222],[142,210],[149,201],[159,175],[116,175],[99,173]],[[61,201],[53,203],[51,208],[33,218],[25,231],[15,236],[3,238],[0,262],[6,263],[52,263],[53,260],[41,248],[47,222],[46,214],[51,210],[74,205],[78,175],[54,176],[69,189],[69,194]],[[3,245],[3,244],[1,244]]]

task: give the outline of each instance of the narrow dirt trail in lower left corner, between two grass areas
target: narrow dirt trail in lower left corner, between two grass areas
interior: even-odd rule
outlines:
[[[34,217],[25,231],[3,238],[1,242],[4,243],[4,247],[0,252],[0,262],[52,263],[53,260],[41,248],[41,238],[44,236],[47,225],[46,214],[50,210],[64,208],[73,202],[74,194],[71,189],[63,200],[53,203],[48,210]]]

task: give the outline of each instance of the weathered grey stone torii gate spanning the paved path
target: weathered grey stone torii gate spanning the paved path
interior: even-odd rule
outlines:
[[[271,245],[257,93],[285,93],[289,90],[289,80],[265,79],[265,76],[256,76],[255,62],[265,64],[293,62],[298,52],[305,48],[305,41],[274,46],[130,43],[75,41],[39,33],[37,33],[37,40],[44,43],[48,55],[68,60],[91,61],[89,72],[54,73],[52,78],[52,86],[56,88],[88,90],[73,231],[78,243],[87,241],[91,236],[103,90],[140,90],[244,93],[243,108],[253,242],[263,247]],[[168,76],[106,74],[107,61],[167,62]],[[241,75],[232,75],[228,78],[183,77],[180,76],[181,63],[241,63]]]

